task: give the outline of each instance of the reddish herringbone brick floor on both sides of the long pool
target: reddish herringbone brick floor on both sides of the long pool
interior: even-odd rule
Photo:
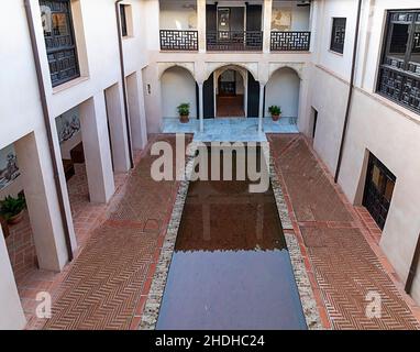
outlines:
[[[174,143],[170,135],[157,138]],[[380,252],[380,231],[365,209],[345,200],[303,138],[269,135],[269,140],[324,326],[417,328],[415,315],[419,317],[419,310],[404,295],[398,277]],[[55,304],[52,319],[33,318],[29,328],[137,328],[178,188],[176,182],[151,179],[152,161],[148,151],[142,153],[110,205],[91,205],[93,218],[82,210],[85,217],[80,212],[76,216],[78,239],[84,244],[63,273],[38,271],[31,277],[29,287],[33,290],[27,295],[49,290]],[[79,195],[85,193],[86,197],[87,189],[84,189]],[[368,290],[380,293],[382,319],[365,317]],[[33,309],[34,300],[27,306]]]

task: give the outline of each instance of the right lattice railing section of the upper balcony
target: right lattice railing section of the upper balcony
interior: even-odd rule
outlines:
[[[270,37],[272,52],[309,52],[311,32],[308,31],[273,31]]]

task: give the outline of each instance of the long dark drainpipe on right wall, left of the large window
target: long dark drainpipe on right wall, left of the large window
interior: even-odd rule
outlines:
[[[340,142],[340,152],[339,152],[339,161],[336,164],[335,169],[335,176],[334,176],[334,183],[336,184],[339,182],[339,175],[341,169],[341,162],[343,160],[343,151],[344,151],[344,142],[345,142],[345,135],[347,132],[347,125],[349,125],[349,117],[350,117],[350,108],[352,106],[352,98],[353,98],[353,88],[354,88],[354,79],[355,79],[355,73],[356,73],[356,58],[357,58],[357,45],[358,45],[358,30],[361,26],[361,12],[362,12],[362,1],[358,0],[357,6],[357,20],[356,20],[356,29],[354,31],[354,46],[353,46],[353,61],[352,61],[352,74],[350,78],[350,89],[349,89],[349,97],[347,97],[347,106],[345,109],[345,117],[344,117],[344,125],[343,125],[343,132],[341,134],[341,142]]]

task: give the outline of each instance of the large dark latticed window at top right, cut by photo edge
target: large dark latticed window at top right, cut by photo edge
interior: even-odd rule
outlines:
[[[389,11],[377,90],[420,112],[420,10]]]

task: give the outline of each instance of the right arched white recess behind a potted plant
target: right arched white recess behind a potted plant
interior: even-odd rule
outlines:
[[[264,114],[270,106],[281,108],[281,119],[296,124],[299,114],[300,78],[295,69],[281,67],[269,78],[265,91]]]

